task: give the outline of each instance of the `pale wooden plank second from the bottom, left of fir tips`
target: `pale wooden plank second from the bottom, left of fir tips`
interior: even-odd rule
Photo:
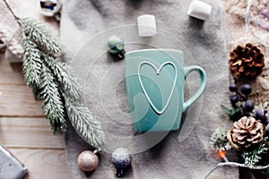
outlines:
[[[54,135],[44,117],[0,117],[0,143],[9,148],[65,149],[64,135]]]

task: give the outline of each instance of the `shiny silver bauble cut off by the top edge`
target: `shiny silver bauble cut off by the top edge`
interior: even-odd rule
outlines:
[[[41,13],[45,16],[52,17],[59,13],[62,7],[60,0],[40,0]]]

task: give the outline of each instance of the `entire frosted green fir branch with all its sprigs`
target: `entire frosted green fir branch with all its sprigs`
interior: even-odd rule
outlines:
[[[43,110],[54,132],[65,132],[69,119],[82,138],[100,149],[105,135],[100,122],[82,101],[82,89],[71,68],[60,59],[56,39],[39,22],[18,19],[22,25],[23,67],[25,81]]]

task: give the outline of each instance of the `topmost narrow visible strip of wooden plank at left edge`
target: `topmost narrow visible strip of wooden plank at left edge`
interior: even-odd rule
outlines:
[[[21,72],[0,72],[0,84],[22,86],[26,85]]]

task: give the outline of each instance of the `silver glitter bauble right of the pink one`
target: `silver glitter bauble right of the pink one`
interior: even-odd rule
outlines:
[[[117,177],[120,177],[124,173],[123,169],[131,165],[132,155],[126,148],[117,148],[113,151],[111,160],[116,167]]]

